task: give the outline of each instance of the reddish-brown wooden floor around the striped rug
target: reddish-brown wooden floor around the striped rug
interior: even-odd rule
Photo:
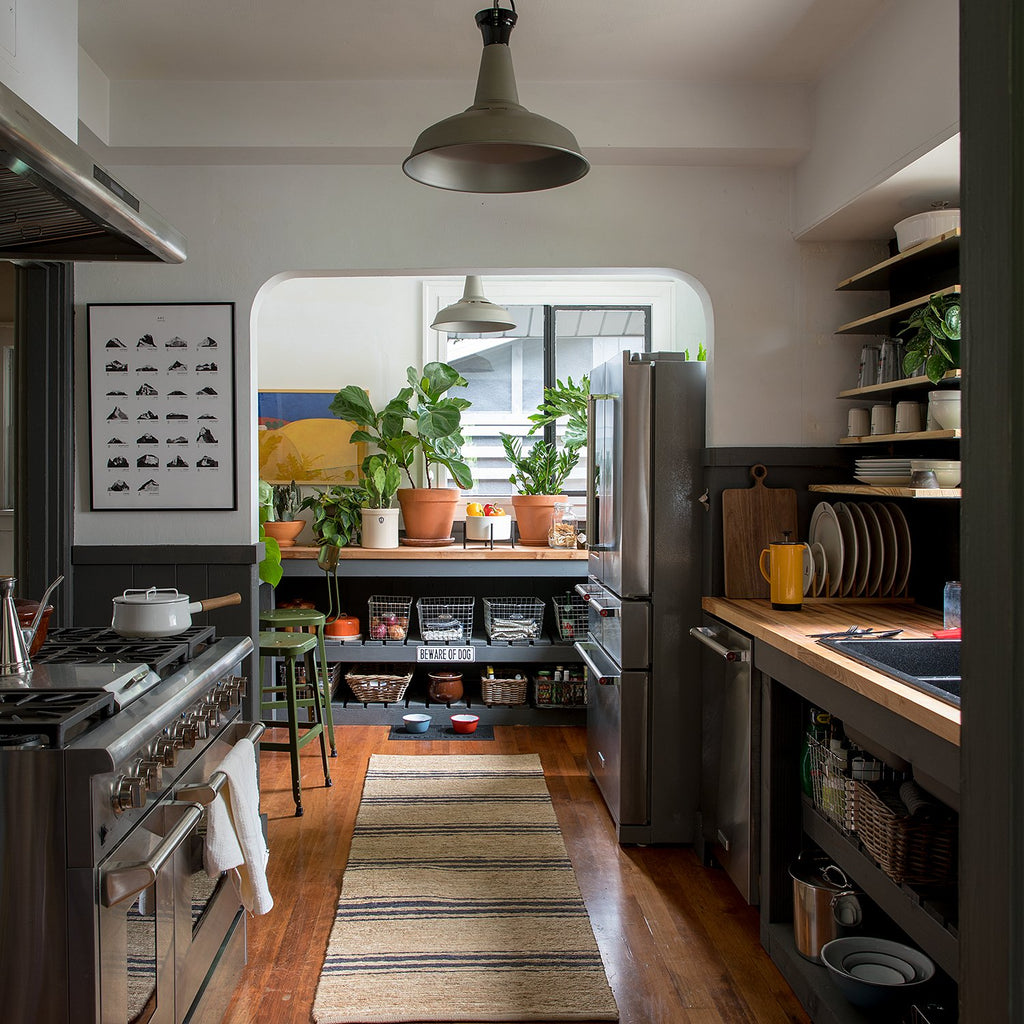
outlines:
[[[260,758],[275,906],[249,919],[249,965],[225,1024],[309,1024],[371,754],[541,756],[565,845],[624,1024],[808,1024],[758,942],[757,912],[686,847],[620,847],[585,762],[582,728],[496,726],[490,741],[388,740],[340,726],[334,786],[318,744],[302,752],[305,815],[293,816],[288,754]]]

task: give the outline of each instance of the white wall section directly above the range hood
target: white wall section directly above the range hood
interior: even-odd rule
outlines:
[[[78,139],[78,0],[0,4],[0,82]]]

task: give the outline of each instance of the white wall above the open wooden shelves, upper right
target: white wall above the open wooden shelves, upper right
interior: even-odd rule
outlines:
[[[798,237],[956,134],[958,54],[957,0],[892,2],[843,52],[817,86],[797,167]]]

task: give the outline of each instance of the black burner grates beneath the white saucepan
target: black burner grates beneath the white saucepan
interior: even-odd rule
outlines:
[[[99,665],[144,662],[157,675],[190,662],[214,638],[212,626],[193,626],[172,637],[122,637],[112,629],[60,626],[47,633],[33,665]]]

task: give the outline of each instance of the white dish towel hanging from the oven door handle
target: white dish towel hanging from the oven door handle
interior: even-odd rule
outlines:
[[[266,913],[273,897],[266,882],[270,851],[259,820],[256,748],[240,739],[217,768],[227,776],[207,808],[203,864],[211,878],[226,871],[242,905],[253,914]]]

